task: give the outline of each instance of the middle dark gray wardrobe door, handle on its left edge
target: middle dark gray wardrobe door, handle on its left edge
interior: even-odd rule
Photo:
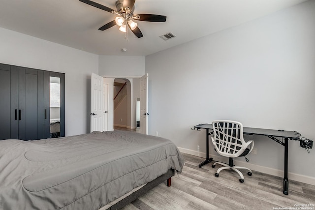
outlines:
[[[19,67],[19,139],[44,138],[44,73]]]

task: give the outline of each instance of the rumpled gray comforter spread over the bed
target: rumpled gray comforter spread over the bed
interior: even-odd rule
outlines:
[[[169,140],[128,131],[0,141],[1,210],[97,210],[184,158]]]

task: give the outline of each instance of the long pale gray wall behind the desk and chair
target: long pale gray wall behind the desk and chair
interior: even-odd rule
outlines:
[[[205,131],[190,128],[219,119],[296,130],[315,140],[314,11],[315,0],[307,1],[147,56],[149,134],[158,131],[201,156]],[[266,137],[245,138],[257,148],[250,163],[283,177],[284,147]],[[298,174],[314,181],[314,159],[315,149],[308,154],[290,141],[289,179]]]

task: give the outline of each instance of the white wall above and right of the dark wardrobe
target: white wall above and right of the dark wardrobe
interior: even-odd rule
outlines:
[[[90,132],[91,74],[98,56],[0,28],[0,63],[65,73],[65,135]]]

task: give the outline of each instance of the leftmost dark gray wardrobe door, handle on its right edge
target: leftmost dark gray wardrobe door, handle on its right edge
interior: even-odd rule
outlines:
[[[18,138],[18,70],[0,64],[0,140]]]

